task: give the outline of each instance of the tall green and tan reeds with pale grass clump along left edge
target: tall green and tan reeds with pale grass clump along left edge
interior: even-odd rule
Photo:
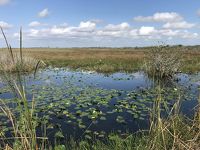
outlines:
[[[1,76],[15,94],[15,103],[17,107],[16,112],[13,108],[6,105],[4,100],[0,100],[0,110],[8,118],[11,124],[11,130],[9,132],[12,135],[11,137],[6,137],[6,133],[1,132],[1,147],[9,150],[33,150],[43,148],[46,137],[37,137],[36,135],[38,122],[35,113],[35,99],[33,97],[31,103],[28,102],[23,78],[23,74],[29,71],[27,68],[30,66],[32,67],[31,69],[35,68],[36,72],[41,61],[36,62],[36,60],[33,61],[33,59],[30,61],[30,59],[24,57],[22,53],[22,30],[20,30],[19,56],[14,55],[2,28],[1,31],[8,50],[6,55],[1,56]],[[15,74],[12,74],[13,71]],[[38,140],[42,141],[40,141],[41,145],[38,144]]]

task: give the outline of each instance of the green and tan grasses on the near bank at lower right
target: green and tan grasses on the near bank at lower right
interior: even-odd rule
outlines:
[[[177,91],[178,92],[178,91]],[[200,120],[199,104],[196,107],[194,118],[187,118],[179,112],[181,96],[169,109],[166,118],[161,116],[165,98],[161,95],[162,89],[157,87],[157,98],[151,110],[151,126],[148,130],[141,130],[134,134],[109,134],[104,142],[99,139],[81,140],[71,139],[66,145],[59,145],[63,149],[127,149],[127,150],[168,150],[168,149],[199,149],[200,147]],[[200,101],[199,101],[200,102]],[[166,107],[167,109],[167,107]]]

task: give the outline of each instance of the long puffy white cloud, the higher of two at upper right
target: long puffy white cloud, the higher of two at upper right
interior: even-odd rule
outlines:
[[[135,17],[134,20],[138,22],[174,22],[183,20],[183,17],[176,12],[157,12],[153,16]]]

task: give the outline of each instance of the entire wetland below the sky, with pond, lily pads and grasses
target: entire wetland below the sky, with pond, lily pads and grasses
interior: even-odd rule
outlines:
[[[4,59],[20,56],[9,71],[4,59],[0,63],[2,149],[200,147],[198,47],[22,50],[20,45],[1,50],[9,54]],[[171,55],[178,49],[181,58]],[[34,59],[32,69],[25,67],[26,54]],[[48,66],[38,69],[39,60]]]

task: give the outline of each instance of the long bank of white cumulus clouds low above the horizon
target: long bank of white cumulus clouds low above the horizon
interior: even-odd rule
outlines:
[[[41,23],[40,23],[41,24]],[[166,23],[167,24],[167,23]],[[33,23],[32,25],[39,25]],[[166,25],[167,26],[167,25]],[[189,26],[188,26],[189,27]],[[199,37],[198,33],[192,33],[185,28],[156,28],[154,26],[131,27],[127,22],[120,24],[108,24],[97,28],[93,21],[81,21],[78,26],[70,26],[67,23],[47,26],[44,28],[31,28],[25,31],[28,39],[94,39],[113,40],[117,39],[194,39]]]

